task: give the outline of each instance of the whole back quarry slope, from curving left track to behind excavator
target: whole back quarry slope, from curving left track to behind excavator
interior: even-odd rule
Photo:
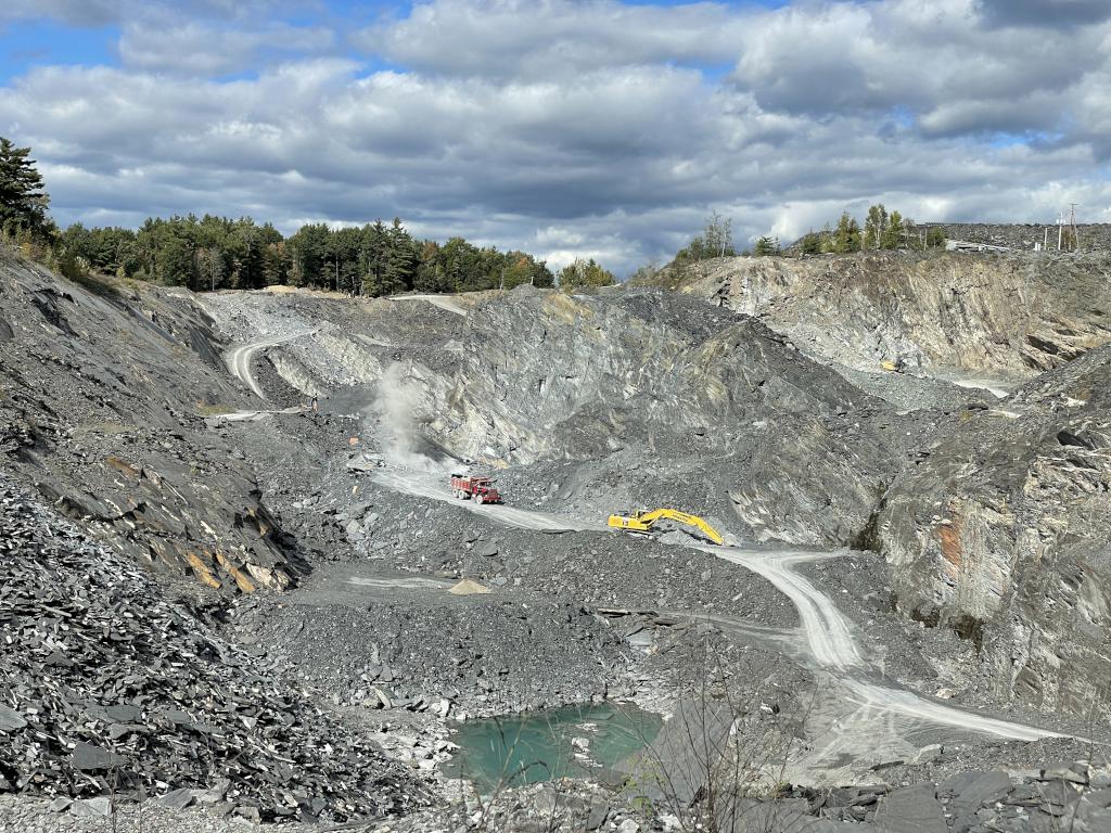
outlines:
[[[204,299],[237,340],[310,333],[256,369],[361,414],[360,449],[528,466],[511,475],[517,499],[601,519],[679,505],[747,538],[847,544],[911,456],[914,418],[748,315],[661,292],[464,301],[466,315],[420,300]]]

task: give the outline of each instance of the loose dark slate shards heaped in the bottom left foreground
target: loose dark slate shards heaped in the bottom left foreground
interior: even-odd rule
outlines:
[[[260,675],[3,476],[0,643],[0,792],[170,793],[250,820],[343,821],[427,801],[308,692]]]

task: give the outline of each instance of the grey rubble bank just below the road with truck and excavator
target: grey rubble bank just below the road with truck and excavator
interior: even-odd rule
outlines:
[[[507,530],[460,505],[397,494],[366,475],[352,482],[359,502],[341,511],[339,522],[353,522],[352,529],[368,536],[360,544],[367,558],[404,571],[471,578],[491,588],[523,585],[590,608],[704,610],[765,625],[797,623],[793,606],[767,580],[712,553],[631,535],[600,543],[589,532]],[[352,500],[350,491],[337,500]],[[536,505],[509,493],[513,505]],[[580,516],[605,520],[600,512]]]

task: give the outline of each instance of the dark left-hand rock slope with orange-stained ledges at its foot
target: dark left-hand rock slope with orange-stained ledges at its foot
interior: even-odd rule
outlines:
[[[243,394],[188,295],[98,293],[0,255],[0,309],[6,468],[142,563],[228,590],[290,583],[253,472],[204,424]]]

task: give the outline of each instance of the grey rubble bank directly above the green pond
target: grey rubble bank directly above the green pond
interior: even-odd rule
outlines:
[[[233,622],[241,638],[284,646],[337,705],[453,716],[589,702],[624,679],[633,654],[581,605],[536,594],[451,606],[436,598],[362,608],[260,599]]]

